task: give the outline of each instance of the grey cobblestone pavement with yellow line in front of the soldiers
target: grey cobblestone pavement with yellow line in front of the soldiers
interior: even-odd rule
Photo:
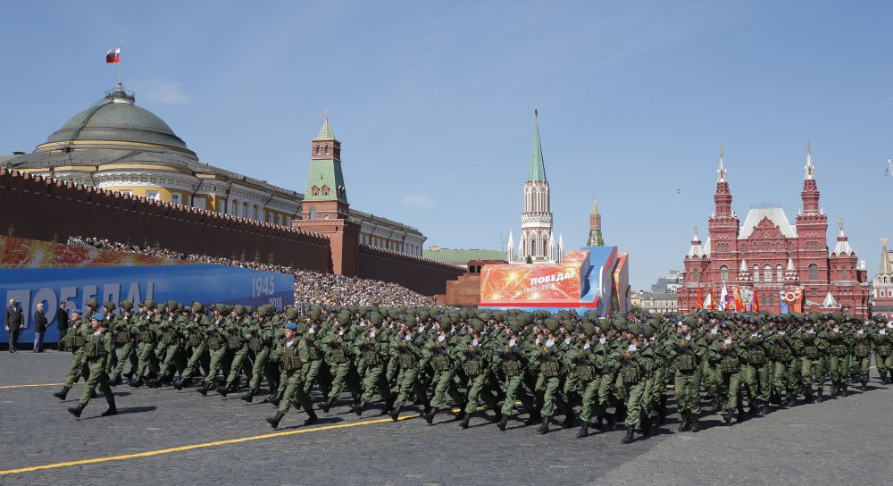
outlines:
[[[0,355],[0,387],[58,383],[71,355],[47,351]],[[889,404],[893,387],[795,406],[724,427],[678,433],[677,415],[646,440],[620,443],[623,432],[585,440],[576,427],[539,435],[521,422],[499,432],[480,412],[466,431],[451,415],[435,426],[420,419],[357,417],[347,401],[301,427],[290,413],[272,431],[269,404],[246,404],[195,389],[114,389],[120,415],[99,417],[102,398],[80,420],[65,411],[55,386],[0,388],[4,454],[0,471],[158,451],[271,432],[299,432],[146,457],[0,475],[0,484],[891,484]],[[405,415],[415,415],[407,410]],[[334,428],[333,425],[357,423]],[[637,434],[638,436],[638,434]]]

